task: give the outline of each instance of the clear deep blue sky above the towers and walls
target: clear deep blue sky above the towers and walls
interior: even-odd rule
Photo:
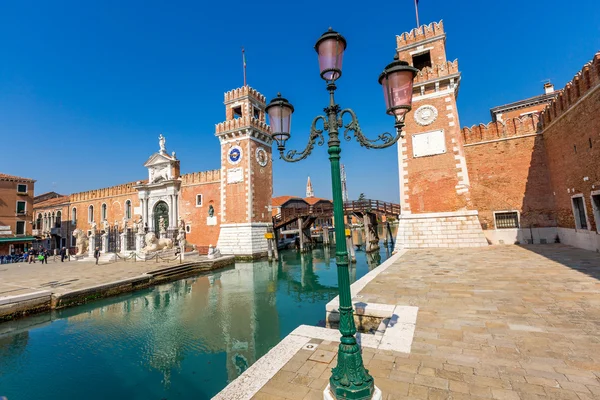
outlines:
[[[158,150],[182,172],[219,168],[214,124],[223,93],[248,83],[295,106],[290,147],[304,148],[327,105],[313,49],[329,26],[348,40],[337,100],[366,134],[393,129],[377,77],[395,37],[416,26],[412,0],[0,2],[0,172],[37,179],[36,193],[71,193],[142,179]],[[462,71],[461,126],[496,105],[561,88],[600,49],[600,7],[577,2],[420,1],[421,23],[444,20],[449,59]],[[351,198],[398,201],[396,148],[344,142]],[[331,193],[325,147],[301,163],[274,162],[275,195]]]

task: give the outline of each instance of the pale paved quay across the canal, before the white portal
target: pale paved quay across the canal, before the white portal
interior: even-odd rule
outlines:
[[[206,258],[206,257],[204,257]],[[64,293],[75,289],[114,282],[139,276],[147,271],[164,266],[173,266],[172,262],[161,261],[120,261],[100,262],[69,261],[60,262],[60,257],[48,259],[48,264],[14,263],[0,264],[0,298],[30,293],[36,290],[51,290]]]

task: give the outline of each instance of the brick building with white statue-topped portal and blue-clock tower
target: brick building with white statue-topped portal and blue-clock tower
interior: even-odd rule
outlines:
[[[266,254],[273,172],[265,98],[244,86],[225,93],[225,108],[215,134],[220,169],[181,174],[181,161],[160,135],[158,151],[143,164],[145,179],[36,203],[44,247],[73,246],[75,229],[159,233],[184,226],[187,243],[201,251],[212,245],[240,257]]]

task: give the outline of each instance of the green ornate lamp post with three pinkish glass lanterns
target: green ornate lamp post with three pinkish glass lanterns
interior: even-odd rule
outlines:
[[[386,113],[395,117],[396,134],[382,133],[375,139],[368,139],[363,135],[358,124],[358,119],[353,110],[341,109],[336,104],[334,93],[335,82],[342,76],[342,59],[346,50],[346,39],[339,33],[331,30],[325,32],[317,43],[315,50],[319,57],[321,78],[327,82],[329,91],[329,106],[324,109],[325,115],[317,116],[310,129],[308,144],[302,152],[288,150],[285,152],[285,143],[290,138],[290,125],[294,107],[283,97],[271,100],[266,108],[271,124],[273,140],[277,142],[280,157],[287,162],[297,162],[305,159],[312,152],[315,144],[325,143],[323,131],[327,131],[329,160],[331,162],[331,183],[333,187],[333,218],[335,223],[336,264],[338,273],[338,290],[340,303],[340,347],[338,351],[337,366],[331,371],[329,379],[330,390],[336,399],[371,399],[375,386],[373,377],[365,369],[356,342],[356,326],[352,309],[350,294],[350,275],[348,272],[348,249],[345,240],[344,206],[342,201],[342,182],[340,177],[340,132],[344,128],[344,138],[351,140],[350,132],[354,133],[358,143],[367,148],[382,149],[395,144],[402,136],[404,116],[411,109],[413,80],[418,72],[404,61],[394,57],[394,61],[385,67],[379,75],[379,83],[383,87],[386,103]],[[350,121],[344,124],[344,116],[349,115]],[[317,128],[319,121],[323,128]]]

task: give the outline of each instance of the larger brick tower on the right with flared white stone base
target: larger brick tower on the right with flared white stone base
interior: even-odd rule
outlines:
[[[400,60],[419,69],[413,109],[398,143],[399,246],[471,247],[487,241],[477,211],[470,210],[469,174],[456,99],[458,60],[446,59],[442,22],[396,37]]]

